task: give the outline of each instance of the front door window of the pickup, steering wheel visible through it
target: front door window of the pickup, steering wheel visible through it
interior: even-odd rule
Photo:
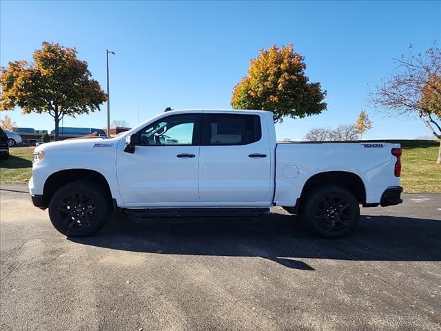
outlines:
[[[179,114],[160,119],[139,132],[141,145],[192,145],[196,114]]]

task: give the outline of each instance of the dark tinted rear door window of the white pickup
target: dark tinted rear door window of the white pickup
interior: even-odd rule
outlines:
[[[261,136],[258,115],[204,114],[203,145],[246,145]]]

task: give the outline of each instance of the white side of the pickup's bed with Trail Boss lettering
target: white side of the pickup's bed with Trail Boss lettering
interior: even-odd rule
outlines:
[[[315,174],[351,172],[365,185],[366,203],[378,203],[385,186],[398,186],[393,176],[396,143],[296,142],[276,146],[277,205],[292,205],[305,182]]]

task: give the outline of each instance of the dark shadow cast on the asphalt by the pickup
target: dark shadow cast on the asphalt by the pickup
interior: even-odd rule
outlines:
[[[288,268],[314,270],[297,259],[441,261],[441,221],[363,216],[342,239],[319,239],[295,216],[256,219],[134,219],[114,217],[96,237],[70,238],[83,245],[132,252],[262,257]]]

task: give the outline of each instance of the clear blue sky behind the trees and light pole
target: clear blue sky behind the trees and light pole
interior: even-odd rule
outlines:
[[[111,119],[131,126],[172,108],[230,108],[233,86],[258,50],[294,43],[311,81],[327,90],[328,109],[276,125],[278,139],[309,128],[354,123],[365,108],[366,139],[429,136],[415,117],[389,118],[367,104],[367,86],[393,69],[392,57],[441,43],[438,1],[1,1],[0,63],[30,60],[41,41],[75,47],[105,88],[110,57]],[[104,127],[101,112],[64,126]],[[52,130],[48,114],[9,114],[18,126]]]

